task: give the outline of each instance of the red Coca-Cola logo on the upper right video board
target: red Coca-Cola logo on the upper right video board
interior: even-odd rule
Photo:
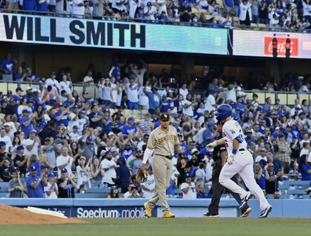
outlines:
[[[273,47],[272,40],[273,37],[264,38],[264,55],[272,55]],[[286,39],[287,38],[276,38],[278,40],[278,56],[285,56],[286,52]],[[291,40],[291,57],[298,57],[298,38],[290,38]]]

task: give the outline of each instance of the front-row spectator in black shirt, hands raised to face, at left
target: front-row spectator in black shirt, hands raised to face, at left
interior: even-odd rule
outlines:
[[[66,168],[62,168],[60,172],[60,178],[57,179],[57,186],[59,189],[58,198],[74,198],[74,189],[78,186],[72,174]]]

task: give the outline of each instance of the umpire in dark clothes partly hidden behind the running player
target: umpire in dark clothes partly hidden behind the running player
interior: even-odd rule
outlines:
[[[223,135],[223,122],[218,121],[216,123],[217,125],[217,132],[220,134],[218,136],[218,140],[220,140]],[[217,218],[219,217],[218,209],[219,209],[219,201],[221,201],[221,194],[223,193],[223,189],[225,189],[224,186],[219,184],[219,174],[221,174],[221,169],[223,168],[223,165],[225,164],[227,159],[227,150],[225,149],[225,145],[218,145],[214,147],[213,150],[213,161],[215,162],[213,166],[213,172],[211,174],[212,179],[212,187],[211,191],[213,193],[213,197],[211,198],[211,204],[209,204],[209,212],[204,214],[204,217],[211,217],[211,218]],[[237,183],[237,174],[231,178],[235,183]],[[240,204],[241,198],[240,195],[237,193],[233,193],[229,191],[233,198]],[[250,214],[252,211],[252,208],[248,206],[247,204],[241,209],[242,215],[240,217],[247,217],[247,215]]]

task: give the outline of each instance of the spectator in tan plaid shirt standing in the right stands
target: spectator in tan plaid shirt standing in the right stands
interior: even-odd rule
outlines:
[[[276,152],[276,157],[282,164],[284,174],[288,174],[289,164],[291,162],[291,147],[285,141],[285,135],[283,134],[278,135],[278,152]]]

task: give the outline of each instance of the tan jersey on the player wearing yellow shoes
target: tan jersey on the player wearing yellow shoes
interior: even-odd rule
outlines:
[[[175,127],[168,126],[168,131],[159,126],[150,134],[147,147],[155,150],[155,155],[174,156],[175,145],[180,145]]]

